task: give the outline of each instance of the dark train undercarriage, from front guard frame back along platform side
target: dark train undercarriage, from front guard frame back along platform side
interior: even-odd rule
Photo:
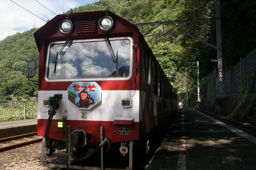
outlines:
[[[79,155],[78,157],[74,156],[73,149],[75,148],[75,145],[81,145],[76,141],[78,138],[72,137],[74,132],[70,132],[70,127],[67,125],[66,141],[68,142],[65,143],[65,163],[59,164],[46,160],[47,155],[49,155],[49,152],[51,151],[47,149],[46,139],[44,137],[42,144],[42,165],[57,168],[83,170],[133,170],[134,168],[136,168],[136,170],[143,169],[143,166],[148,163],[155,150],[157,149],[158,144],[160,144],[156,139],[159,139],[159,134],[161,132],[164,132],[168,129],[168,125],[169,124],[165,124],[165,126],[157,126],[154,128],[154,130],[150,131],[150,133],[148,133],[139,141],[124,141],[121,142],[121,145],[120,142],[110,144],[108,138],[104,137],[104,127],[101,126],[101,143],[98,146],[93,147],[93,149],[90,148],[89,153],[87,153],[87,149],[83,150],[83,148],[86,148],[87,146],[80,147],[80,154],[81,152],[84,152],[84,154]],[[163,136],[164,133],[162,137]],[[111,146],[110,149],[109,144]],[[109,154],[111,154],[111,156],[109,156]],[[50,155],[52,155],[52,153]],[[51,157],[49,157],[49,159],[51,159]]]

